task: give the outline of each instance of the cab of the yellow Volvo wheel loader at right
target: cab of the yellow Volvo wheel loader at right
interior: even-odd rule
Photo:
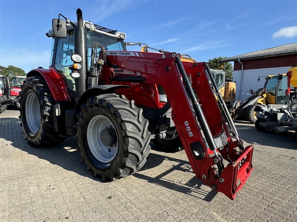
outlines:
[[[288,97],[286,95],[287,89],[287,75],[268,75],[264,84],[266,93],[266,104],[287,104]],[[293,86],[291,85],[293,89]]]

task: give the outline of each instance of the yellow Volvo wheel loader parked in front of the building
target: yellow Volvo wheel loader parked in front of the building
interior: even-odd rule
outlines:
[[[282,75],[283,78],[279,78],[279,75]],[[255,123],[257,120],[256,106],[267,107],[269,104],[286,104],[288,101],[287,96],[285,96],[287,74],[279,75],[267,75],[263,88],[256,91],[250,89],[249,92],[252,95],[242,103],[237,100],[230,109],[232,118],[234,120],[244,118],[251,123]],[[261,77],[258,77],[258,81],[260,81]]]

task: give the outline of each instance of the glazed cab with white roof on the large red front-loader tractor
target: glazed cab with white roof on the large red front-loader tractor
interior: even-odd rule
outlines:
[[[75,23],[77,25],[77,23]],[[83,26],[86,28],[86,57],[87,57],[87,72],[92,72],[91,69],[91,54],[92,46],[94,42],[101,44],[105,50],[109,51],[126,51],[124,39],[126,34],[120,33],[117,30],[102,27],[100,25],[93,24],[88,21],[83,21]],[[49,30],[46,36],[53,38],[52,54],[50,57],[50,66],[55,67],[56,70],[61,73],[67,83],[70,95],[75,97],[75,77],[71,76],[71,66],[73,61],[71,55],[74,54],[75,35],[74,27],[69,24],[67,26],[66,38],[55,38],[53,30]],[[99,51],[97,52],[99,54]],[[89,75],[88,75],[89,76]],[[88,82],[89,83],[89,82]],[[98,85],[93,81],[91,86]]]

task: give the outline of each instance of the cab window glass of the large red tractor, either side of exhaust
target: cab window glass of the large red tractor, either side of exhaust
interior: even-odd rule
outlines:
[[[105,47],[106,50],[125,51],[125,45],[122,40],[104,36],[99,33],[94,33],[90,30],[87,31],[86,43],[87,43],[87,57],[88,57],[88,71],[90,70],[91,63],[91,48],[94,42],[99,42]],[[58,38],[58,44],[56,49],[55,68],[65,77],[67,86],[70,92],[75,92],[75,81],[70,76],[70,70],[68,65],[72,65],[73,62],[70,56],[74,53],[74,31],[67,33],[66,38]]]

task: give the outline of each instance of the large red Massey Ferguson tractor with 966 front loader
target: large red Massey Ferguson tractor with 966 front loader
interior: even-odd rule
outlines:
[[[253,146],[239,139],[206,62],[126,51],[124,33],[76,13],[77,23],[53,19],[51,66],[31,70],[22,85],[28,144],[74,136],[86,169],[106,181],[139,170],[151,139],[181,141],[197,178],[234,199],[253,169]]]

